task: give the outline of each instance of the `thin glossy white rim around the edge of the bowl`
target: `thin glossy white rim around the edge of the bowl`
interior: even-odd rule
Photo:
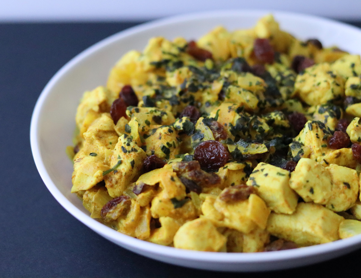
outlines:
[[[109,228],[108,226],[98,222],[95,219],[92,219],[89,215],[77,208],[73,203],[70,202],[57,188],[55,183],[51,180],[49,176],[41,153],[40,153],[40,142],[39,142],[39,119],[43,111],[43,104],[46,101],[49,94],[51,94],[52,88],[58,82],[59,79],[65,73],[73,68],[79,61],[82,59],[91,56],[92,53],[97,50],[105,47],[106,45],[112,44],[117,40],[126,38],[129,35],[136,34],[138,32],[146,31],[152,28],[160,27],[163,25],[168,25],[171,23],[182,23],[184,21],[192,19],[207,19],[210,17],[222,16],[240,16],[242,14],[247,14],[247,16],[261,17],[265,14],[273,14],[275,17],[281,16],[283,18],[292,17],[299,18],[308,21],[318,21],[325,23],[330,26],[342,26],[344,28],[353,29],[354,31],[361,32],[361,30],[355,26],[349,25],[347,23],[338,22],[332,19],[327,19],[318,16],[311,16],[302,13],[293,13],[293,12],[283,12],[277,10],[254,10],[254,9],[244,9],[244,10],[212,10],[208,12],[196,12],[196,13],[187,13],[181,14],[178,16],[171,16],[162,19],[156,19],[150,22],[145,22],[140,25],[127,28],[126,30],[117,32],[105,39],[93,44],[87,49],[83,50],[81,53],[77,54],[64,66],[62,66],[55,75],[49,80],[45,85],[43,91],[40,93],[38,100],[36,101],[34,111],[31,117],[30,124],[30,145],[31,151],[34,158],[34,162],[38,172],[44,181],[44,184],[47,186],[48,190],[51,192],[53,197],[61,204],[62,207],[66,209],[71,215],[81,221],[83,224],[96,231],[98,234],[103,237],[113,241],[121,242],[122,246],[132,250],[134,252],[140,253],[141,251],[150,252],[153,254],[168,256],[184,260],[196,260],[203,262],[221,262],[221,263],[239,263],[239,262],[276,262],[283,260],[293,260],[300,259],[307,256],[317,256],[324,253],[335,252],[342,250],[347,247],[360,245],[361,244],[361,235],[356,235],[351,238],[338,240],[330,243],[323,243],[315,246],[297,248],[293,250],[283,250],[277,252],[260,252],[260,253],[219,253],[219,252],[204,252],[204,251],[192,251],[192,250],[182,250],[174,247],[162,246],[159,244],[143,241],[140,239],[132,238],[128,235],[119,233],[116,230]],[[134,250],[135,249],[135,250]]]

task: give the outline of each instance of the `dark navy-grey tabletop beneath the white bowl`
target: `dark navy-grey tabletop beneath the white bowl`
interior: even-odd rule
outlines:
[[[35,102],[47,81],[76,54],[137,23],[0,24],[0,277],[360,277],[361,250],[267,273],[164,264],[107,241],[57,203],[31,155]],[[361,21],[350,23],[361,27]]]

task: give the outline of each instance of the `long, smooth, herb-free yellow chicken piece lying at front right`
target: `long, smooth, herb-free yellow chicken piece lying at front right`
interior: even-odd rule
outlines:
[[[313,203],[299,203],[292,215],[271,213],[267,230],[271,235],[299,246],[336,241],[342,216]]]

